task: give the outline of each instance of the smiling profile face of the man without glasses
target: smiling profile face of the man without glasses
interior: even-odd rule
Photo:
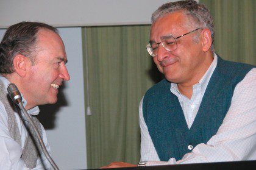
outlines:
[[[54,104],[63,80],[69,80],[66,52],[62,39],[51,30],[37,34],[35,65],[28,66],[24,98],[32,105]],[[26,96],[25,96],[26,94]]]

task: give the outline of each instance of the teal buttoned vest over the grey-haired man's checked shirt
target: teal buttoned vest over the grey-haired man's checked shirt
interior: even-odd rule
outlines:
[[[189,145],[207,143],[216,134],[229,110],[237,83],[252,68],[254,66],[227,62],[218,57],[217,66],[190,129],[177,96],[170,91],[170,82],[164,79],[146,92],[143,116],[161,161],[168,161],[172,157],[180,160],[191,152]]]

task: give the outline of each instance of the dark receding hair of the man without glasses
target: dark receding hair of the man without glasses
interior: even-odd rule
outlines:
[[[55,27],[44,23],[21,22],[10,26],[0,43],[0,73],[13,73],[13,58],[17,54],[24,55],[35,63],[37,54],[37,33],[40,29],[49,29],[58,34]]]

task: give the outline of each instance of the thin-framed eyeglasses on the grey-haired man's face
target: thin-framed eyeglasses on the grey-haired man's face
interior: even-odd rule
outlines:
[[[187,34],[190,34],[191,32],[199,30],[199,29],[201,29],[201,28],[197,28],[195,30],[191,30],[190,32],[188,32],[186,34],[183,34],[183,35],[180,35],[179,37],[176,37],[176,38],[168,37],[167,36],[166,38],[163,38],[163,40],[161,40],[159,43],[155,43],[155,42],[148,43],[147,44],[148,52],[149,52],[149,54],[152,57],[157,56],[159,44],[161,44],[161,43],[162,43],[163,48],[165,48],[167,51],[174,51],[174,50],[177,49],[177,41],[176,40],[178,38],[183,37],[183,36],[185,36]]]

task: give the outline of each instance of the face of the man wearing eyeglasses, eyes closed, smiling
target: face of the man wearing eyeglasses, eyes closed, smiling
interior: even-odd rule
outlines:
[[[179,37],[197,27],[191,26],[188,17],[182,12],[169,13],[162,18],[158,18],[151,27],[150,40],[156,43],[163,37]],[[159,71],[165,74],[170,82],[189,83],[191,77],[200,69],[202,64],[201,37],[199,42],[195,41],[200,30],[177,39],[177,49],[170,52],[159,44],[158,55],[153,57]]]

